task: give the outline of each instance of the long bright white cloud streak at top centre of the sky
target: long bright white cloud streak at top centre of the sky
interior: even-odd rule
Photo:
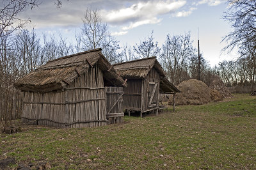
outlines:
[[[134,3],[118,10],[100,10],[104,22],[122,26],[122,31],[112,35],[124,35],[129,29],[145,24],[158,24],[161,15],[174,13],[186,4],[185,0],[161,0]]]

